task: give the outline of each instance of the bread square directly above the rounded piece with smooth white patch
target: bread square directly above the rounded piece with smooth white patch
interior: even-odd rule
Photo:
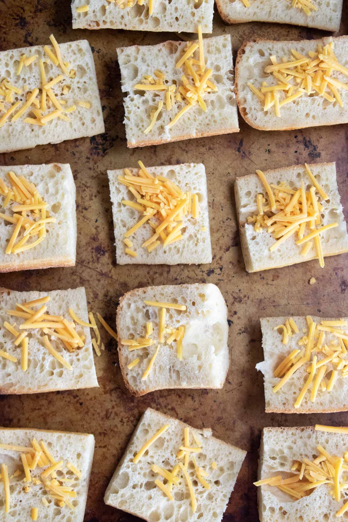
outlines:
[[[138,176],[139,169],[129,168],[128,170],[131,174]],[[161,242],[152,252],[148,252],[146,247],[141,246],[154,233],[148,222],[143,224],[129,238],[133,242],[131,250],[137,253],[137,257],[126,254],[126,245],[123,242],[124,234],[141,219],[142,214],[138,210],[121,203],[122,200],[131,200],[136,203],[136,199],[128,190],[128,187],[118,181],[118,176],[124,176],[124,171],[122,169],[108,170],[117,264],[177,265],[184,263],[198,265],[211,263],[207,177],[204,165],[202,163],[185,163],[183,165],[150,167],[148,170],[153,176],[168,178],[183,192],[191,192],[191,195],[197,194],[199,217],[197,219],[192,215],[184,217],[185,228],[181,230],[183,239],[169,244],[165,248],[163,248],[163,242]],[[159,220],[157,224],[160,224]]]

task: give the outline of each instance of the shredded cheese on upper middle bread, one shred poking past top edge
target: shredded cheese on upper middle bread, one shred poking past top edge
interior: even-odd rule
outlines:
[[[182,85],[176,85],[174,82],[171,82],[169,85],[169,80],[166,80],[164,73],[160,70],[155,70],[153,75],[155,78],[151,75],[145,75],[142,84],[134,86],[135,91],[155,91],[163,98],[160,100],[157,109],[151,112],[151,123],[145,129],[145,134],[151,131],[163,108],[171,111],[175,108],[177,102],[182,103],[183,100],[187,102],[167,125],[170,128],[185,112],[193,108],[197,103],[206,112],[207,105],[203,98],[207,93],[218,91],[218,87],[209,80],[213,74],[213,69],[207,69],[206,67],[201,26],[198,26],[198,43],[187,42],[184,54],[176,63],[176,68],[183,68]]]

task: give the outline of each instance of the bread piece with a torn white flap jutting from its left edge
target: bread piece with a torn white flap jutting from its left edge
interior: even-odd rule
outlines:
[[[273,393],[273,386],[280,382],[279,377],[274,377],[273,372],[277,368],[277,366],[293,351],[293,350],[301,350],[306,348],[305,345],[300,346],[298,341],[302,339],[304,336],[308,337],[308,326],[306,317],[293,317],[299,333],[296,334],[292,331],[292,336],[289,336],[289,342],[287,345],[283,345],[283,333],[282,330],[274,330],[275,326],[285,324],[286,319],[289,317],[265,317],[260,319],[261,322],[261,331],[262,331],[262,348],[263,348],[263,357],[264,361],[259,362],[256,365],[256,369],[263,373],[263,380],[265,384],[265,401],[266,401],[266,412],[276,412],[276,413],[330,413],[332,411],[348,411],[348,397],[345,393],[346,388],[346,379],[342,376],[342,371],[338,371],[337,380],[335,381],[332,391],[327,392],[323,391],[320,386],[318,389],[317,397],[315,402],[311,402],[310,400],[310,392],[313,388],[313,384],[309,386],[309,389],[298,408],[294,408],[294,404],[296,399],[301,392],[309,373],[306,371],[307,367],[311,365],[311,357],[310,362],[308,364],[304,364],[299,367],[298,370],[290,377],[289,381],[287,381],[284,386],[282,386],[278,392]],[[315,317],[311,316],[313,321],[316,324],[320,324],[321,321],[330,321],[332,319],[327,319],[323,317]],[[348,319],[343,317],[345,321]],[[303,329],[307,328],[307,334],[304,333]],[[348,327],[340,326],[337,327],[344,332],[345,335],[348,335]],[[332,333],[325,331],[325,345],[330,346],[330,343],[333,345],[339,345],[338,337],[335,337]],[[315,342],[316,345],[316,342]],[[332,348],[335,351],[334,348]],[[339,350],[339,348],[337,348]],[[327,355],[322,352],[315,352],[314,355],[317,355],[317,362],[319,363],[322,359],[326,358]],[[346,358],[341,359],[348,363]],[[326,364],[327,370],[324,377],[326,383],[328,383],[329,378],[331,376],[331,371],[337,371],[337,364],[333,364],[328,362]],[[316,373],[316,376],[318,372]]]

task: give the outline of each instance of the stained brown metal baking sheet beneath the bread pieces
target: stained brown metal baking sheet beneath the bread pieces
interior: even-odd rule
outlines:
[[[16,4],[16,5],[15,5]],[[256,35],[272,39],[319,38],[328,33],[294,26],[247,23],[225,26],[214,15],[213,35],[230,33],[233,54]],[[347,315],[348,255],[292,267],[247,274],[239,246],[233,182],[236,176],[306,162],[336,161],[338,184],[348,216],[348,127],[313,127],[301,131],[260,132],[239,118],[241,132],[190,139],[158,147],[127,149],[116,47],[178,39],[173,33],[71,29],[68,0],[0,0],[0,50],[88,39],[94,52],[102,97],[105,134],[0,155],[0,164],[67,162],[77,188],[78,245],[74,268],[0,275],[0,286],[15,290],[54,290],[85,286],[89,307],[114,325],[119,297],[151,284],[212,282],[229,309],[231,367],[222,390],[165,390],[141,398],[126,390],[117,365],[117,347],[103,332],[106,351],[96,360],[100,388],[38,395],[0,396],[0,425],[83,431],[95,436],[95,453],[86,522],[135,522],[135,517],[106,506],[103,496],[141,413],[157,408],[193,426],[212,426],[215,436],[248,451],[224,522],[258,520],[257,456],[263,426],[348,424],[345,413],[265,414],[260,316]],[[339,34],[348,33],[344,2]],[[203,162],[207,171],[213,262],[201,266],[116,266],[107,169]],[[309,286],[310,277],[317,282]],[[208,522],[208,521],[207,521]]]

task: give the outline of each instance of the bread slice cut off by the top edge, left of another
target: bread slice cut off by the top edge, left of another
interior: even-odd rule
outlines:
[[[149,15],[148,2],[133,7],[120,8],[116,3],[103,4],[101,0],[90,0],[89,9],[85,13],[77,13],[82,5],[81,0],[71,2],[73,11],[73,29],[130,29],[132,31],[177,31],[211,33],[213,28],[214,0],[207,2],[190,0],[183,4],[182,0],[172,0],[162,4],[153,2],[153,13]]]

